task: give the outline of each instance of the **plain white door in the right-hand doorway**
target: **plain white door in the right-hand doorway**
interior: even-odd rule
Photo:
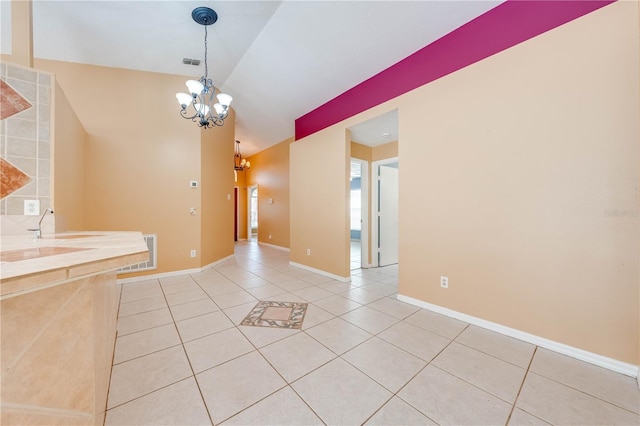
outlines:
[[[398,263],[398,163],[378,170],[378,266],[387,266]]]

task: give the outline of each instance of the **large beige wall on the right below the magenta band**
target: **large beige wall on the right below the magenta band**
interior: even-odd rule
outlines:
[[[616,2],[292,144],[292,258],[347,240],[323,171],[342,175],[347,128],[398,108],[400,294],[638,364],[639,32]],[[319,254],[304,263],[345,258]]]

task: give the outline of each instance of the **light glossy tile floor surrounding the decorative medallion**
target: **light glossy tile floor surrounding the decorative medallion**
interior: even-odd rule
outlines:
[[[240,243],[202,273],[123,285],[107,425],[638,425],[635,379],[342,283]],[[301,330],[238,326],[308,302]]]

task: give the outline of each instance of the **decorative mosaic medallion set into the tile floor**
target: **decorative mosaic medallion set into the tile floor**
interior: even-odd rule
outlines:
[[[306,312],[307,303],[260,301],[240,325],[300,329]]]

